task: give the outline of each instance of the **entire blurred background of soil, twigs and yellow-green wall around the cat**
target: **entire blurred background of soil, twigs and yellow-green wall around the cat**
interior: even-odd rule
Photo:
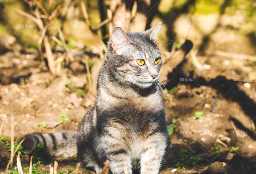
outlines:
[[[161,173],[255,172],[255,1],[0,0],[0,11],[0,171],[12,122],[16,147],[27,134],[78,129],[113,27],[138,32],[163,22],[171,150]],[[60,171],[75,168],[76,157],[56,159]],[[38,166],[33,157],[40,171],[56,159],[45,154]]]

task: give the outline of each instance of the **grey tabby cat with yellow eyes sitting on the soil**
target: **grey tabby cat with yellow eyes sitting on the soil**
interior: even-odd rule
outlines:
[[[84,116],[77,134],[58,132],[27,136],[31,153],[37,143],[50,155],[73,155],[96,173],[110,161],[111,172],[159,173],[169,147],[167,119],[157,81],[162,60],[156,39],[161,24],[140,33],[115,27],[97,83],[95,107]]]

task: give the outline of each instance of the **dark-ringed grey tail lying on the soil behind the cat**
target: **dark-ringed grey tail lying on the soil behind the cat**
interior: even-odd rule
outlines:
[[[26,135],[23,152],[32,154],[44,150],[50,156],[74,156],[77,153],[77,134],[71,132],[34,133]]]

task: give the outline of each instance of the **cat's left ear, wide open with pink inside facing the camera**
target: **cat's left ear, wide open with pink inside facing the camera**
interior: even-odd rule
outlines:
[[[110,38],[111,47],[118,55],[122,55],[122,52],[125,51],[130,43],[129,39],[121,27],[115,27],[112,31]]]

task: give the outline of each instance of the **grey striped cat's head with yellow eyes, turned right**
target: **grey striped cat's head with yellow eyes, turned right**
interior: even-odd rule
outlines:
[[[113,29],[106,53],[110,79],[139,88],[157,82],[162,59],[156,39],[161,25],[138,33],[125,33],[121,27]]]

